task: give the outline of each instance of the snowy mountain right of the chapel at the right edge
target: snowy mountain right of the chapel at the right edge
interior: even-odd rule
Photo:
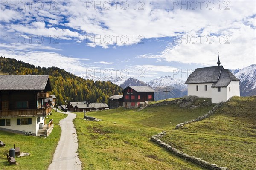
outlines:
[[[252,64],[239,70],[234,75],[240,79],[240,95],[256,95],[256,64]]]

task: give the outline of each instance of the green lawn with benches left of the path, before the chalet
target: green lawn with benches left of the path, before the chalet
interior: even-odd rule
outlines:
[[[5,147],[0,147],[0,169],[46,170],[52,162],[53,153],[61,135],[61,127],[58,125],[59,121],[66,116],[61,113],[52,112],[49,118],[53,119],[54,128],[47,138],[0,131],[0,140],[6,144]],[[49,119],[47,116],[48,122]],[[9,149],[13,147],[13,144],[16,147],[20,147],[21,152],[28,152],[30,155],[20,158],[15,157],[18,165],[9,166],[6,153],[9,153]]]

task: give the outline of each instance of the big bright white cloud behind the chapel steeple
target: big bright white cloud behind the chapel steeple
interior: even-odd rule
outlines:
[[[193,39],[189,38],[194,37],[195,34],[192,33],[184,36],[183,40],[177,40],[176,46],[167,46],[160,55],[144,54],[137,57],[213,66],[217,63],[219,49],[221,64],[225,68],[242,68],[255,63],[255,28],[244,25],[242,21],[234,22],[227,27],[232,29],[226,29],[229,32],[226,36],[212,36],[208,40],[206,36]]]

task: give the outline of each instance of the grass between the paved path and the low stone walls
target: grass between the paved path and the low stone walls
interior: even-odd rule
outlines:
[[[213,105],[212,105],[213,106]],[[132,109],[111,109],[87,112],[103,119],[83,120],[78,113],[74,121],[79,142],[79,158],[84,170],[204,170],[167,152],[150,137],[162,130],[205,114],[209,109],[186,110],[176,106],[147,107],[140,112]]]

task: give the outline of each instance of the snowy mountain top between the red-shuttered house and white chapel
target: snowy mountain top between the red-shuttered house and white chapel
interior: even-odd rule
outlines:
[[[148,82],[148,85],[152,88],[160,88],[160,87],[166,87],[166,86],[172,86],[175,89],[186,89],[187,85],[184,84],[185,81],[183,81],[180,78],[172,78],[171,76],[165,76],[160,78],[155,78]]]

